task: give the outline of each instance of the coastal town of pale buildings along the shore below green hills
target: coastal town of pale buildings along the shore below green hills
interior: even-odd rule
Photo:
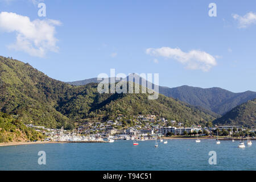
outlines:
[[[54,142],[114,142],[115,139],[123,140],[151,140],[161,137],[208,137],[213,138],[218,131],[219,136],[232,136],[241,138],[250,135],[255,137],[254,129],[246,129],[242,126],[210,126],[192,125],[185,127],[184,123],[160,118],[156,115],[137,115],[133,119],[124,119],[124,115],[118,115],[113,120],[95,122],[82,122],[76,129],[64,130],[49,129],[44,126],[32,127],[43,133],[47,141]]]

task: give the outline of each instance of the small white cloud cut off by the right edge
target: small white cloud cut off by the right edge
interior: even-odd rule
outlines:
[[[243,16],[240,16],[238,14],[232,15],[234,19],[238,20],[238,27],[239,28],[246,28],[250,26],[250,24],[256,23],[256,13],[249,12]]]

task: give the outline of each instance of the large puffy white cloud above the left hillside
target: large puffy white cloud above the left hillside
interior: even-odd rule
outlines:
[[[47,51],[58,51],[55,26],[60,24],[58,20],[53,19],[35,19],[31,22],[27,16],[0,13],[0,30],[16,32],[16,43],[8,47],[27,52],[31,56],[43,57]]]

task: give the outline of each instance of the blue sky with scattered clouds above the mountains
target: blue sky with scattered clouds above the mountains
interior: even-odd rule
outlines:
[[[38,16],[40,2],[46,17]],[[211,2],[217,5],[216,17],[208,15]],[[57,80],[110,75],[115,68],[126,75],[159,73],[159,84],[168,87],[256,91],[255,1],[0,0],[1,12],[0,55],[30,63]],[[38,19],[48,29],[28,34],[25,25],[10,27],[10,13],[16,20],[27,16],[28,24]],[[22,40],[16,42],[19,35]],[[26,41],[34,53],[20,48]]]

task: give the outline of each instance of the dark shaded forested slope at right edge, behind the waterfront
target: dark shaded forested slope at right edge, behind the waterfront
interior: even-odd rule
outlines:
[[[230,110],[221,118],[214,120],[213,123],[221,125],[239,125],[245,127],[255,126],[256,98],[234,107],[234,109]]]

